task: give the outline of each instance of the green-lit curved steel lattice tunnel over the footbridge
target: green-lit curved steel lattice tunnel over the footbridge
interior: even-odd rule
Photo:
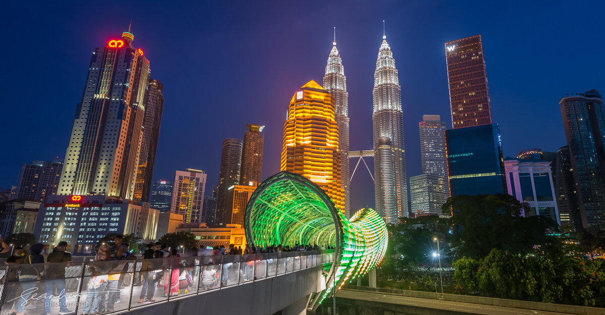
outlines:
[[[341,288],[378,265],[387,250],[387,226],[374,210],[359,210],[349,220],[315,183],[290,172],[264,181],[246,207],[250,244],[317,244],[335,247],[334,260],[323,266],[325,290],[312,294],[314,310],[333,287]]]

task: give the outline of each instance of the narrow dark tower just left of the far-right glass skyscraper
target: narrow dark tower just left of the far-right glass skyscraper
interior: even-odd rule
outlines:
[[[574,170],[569,157],[569,147],[562,146],[557,151],[557,169],[555,171],[555,195],[561,228],[567,232],[578,232],[583,228],[580,205],[575,193]]]

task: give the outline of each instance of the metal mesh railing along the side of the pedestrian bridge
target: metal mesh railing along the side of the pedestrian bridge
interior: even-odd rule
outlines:
[[[0,315],[108,314],[332,262],[333,250],[0,266]]]

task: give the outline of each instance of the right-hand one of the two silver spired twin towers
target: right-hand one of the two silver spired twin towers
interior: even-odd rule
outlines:
[[[382,45],[378,51],[376,71],[374,71],[374,150],[379,147],[379,139],[388,137],[393,146],[394,189],[381,186],[380,170],[385,167],[381,159],[374,158],[374,193],[376,195],[376,212],[384,213],[388,223],[397,223],[400,216],[408,216],[408,178],[405,172],[404,113],[401,111],[401,86],[395,68],[393,51],[387,44],[387,36],[382,36]],[[394,209],[380,209],[378,200],[394,198]]]

